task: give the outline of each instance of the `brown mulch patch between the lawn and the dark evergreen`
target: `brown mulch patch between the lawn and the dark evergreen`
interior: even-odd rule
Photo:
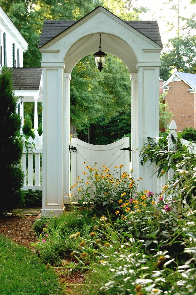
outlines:
[[[0,233],[14,242],[33,249],[30,244],[36,242],[33,224],[36,216],[5,216],[0,219]]]

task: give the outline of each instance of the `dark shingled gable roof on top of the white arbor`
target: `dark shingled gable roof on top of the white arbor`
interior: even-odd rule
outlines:
[[[98,6],[94,10],[98,9],[99,7],[102,7],[102,6]],[[103,8],[103,9],[105,9],[105,8]],[[105,9],[105,10],[107,10],[107,9]],[[111,13],[111,12],[109,12],[109,13]],[[111,13],[111,14],[113,14],[113,13]],[[85,18],[85,17],[83,17],[83,18]],[[38,48],[42,47],[47,42],[49,42],[50,40],[52,40],[56,36],[60,35],[62,32],[66,31],[69,27],[73,26],[75,23],[77,23],[79,21],[80,21],[80,19],[78,21],[75,21],[75,20],[45,20],[44,25],[43,25],[43,29],[42,29],[42,34],[40,36]],[[147,38],[149,38],[150,40],[152,40],[153,42],[158,44],[159,46],[163,47],[157,21],[123,21],[122,19],[121,19],[121,21],[125,22],[126,24],[128,24],[129,26],[131,26],[132,28],[134,28],[135,30],[140,32],[142,35],[146,36]]]

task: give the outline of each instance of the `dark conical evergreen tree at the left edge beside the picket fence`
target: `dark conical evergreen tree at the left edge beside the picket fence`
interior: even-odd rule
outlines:
[[[0,73],[0,99],[2,113],[0,118],[3,132],[1,146],[1,208],[0,214],[17,208],[21,198],[24,175],[19,166],[23,145],[19,141],[21,120],[16,114],[17,99],[12,86],[12,73],[3,67]]]

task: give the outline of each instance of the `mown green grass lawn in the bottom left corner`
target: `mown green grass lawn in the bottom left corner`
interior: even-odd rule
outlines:
[[[62,288],[36,254],[0,235],[0,294],[62,295]]]

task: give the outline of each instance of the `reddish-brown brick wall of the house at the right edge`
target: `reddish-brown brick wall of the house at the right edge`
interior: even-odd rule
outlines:
[[[173,112],[172,120],[176,121],[177,131],[185,127],[196,127],[196,97],[189,93],[190,87],[184,81],[174,81],[168,84],[169,90],[165,97],[169,110]],[[195,102],[194,102],[195,100]],[[183,117],[184,116],[184,117]]]

